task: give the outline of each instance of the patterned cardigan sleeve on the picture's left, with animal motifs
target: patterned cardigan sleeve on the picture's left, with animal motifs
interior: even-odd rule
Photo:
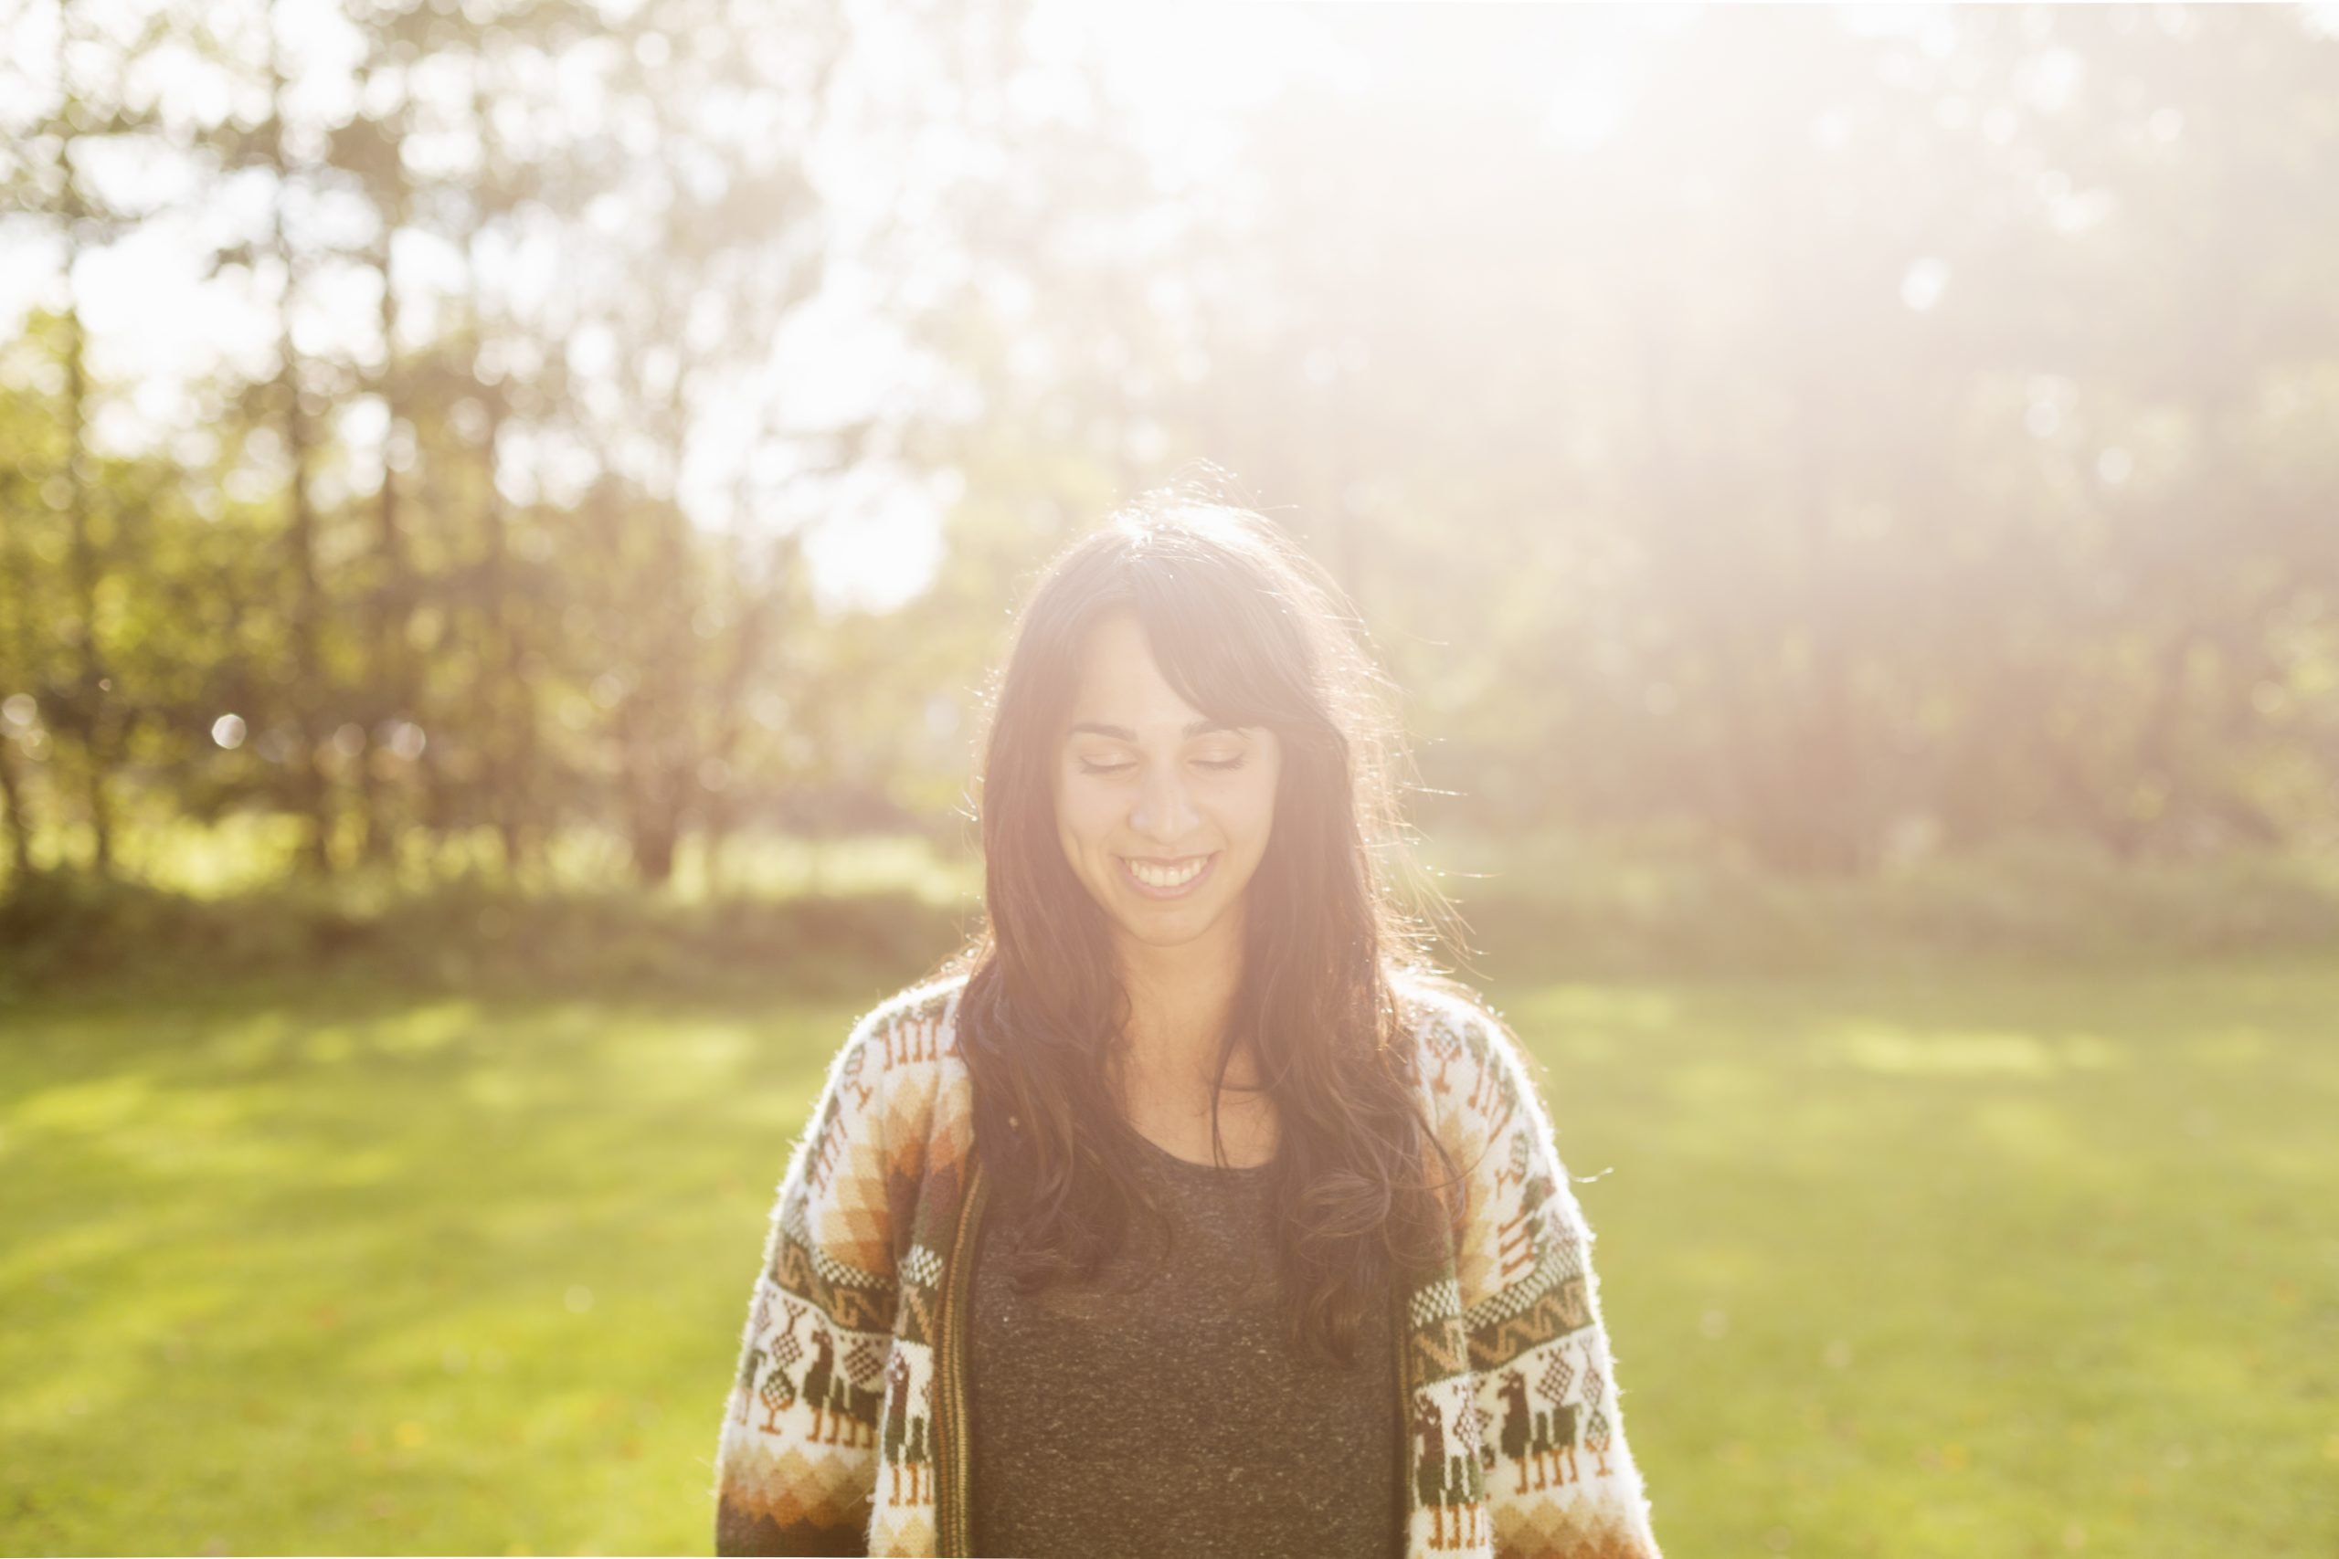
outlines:
[[[718,1554],[863,1554],[896,1272],[884,1157],[891,1024],[835,1054],[788,1157],[716,1449]]]

